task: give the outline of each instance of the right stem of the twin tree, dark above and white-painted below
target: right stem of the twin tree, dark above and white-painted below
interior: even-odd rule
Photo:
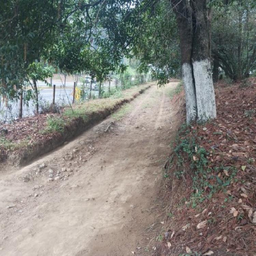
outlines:
[[[216,103],[211,71],[211,10],[207,0],[195,0],[193,9],[192,64],[196,86],[197,119],[216,118]]]

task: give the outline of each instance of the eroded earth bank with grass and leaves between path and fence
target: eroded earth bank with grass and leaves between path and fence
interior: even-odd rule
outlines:
[[[26,165],[38,156],[46,154],[56,147],[62,145],[65,141],[74,138],[97,124],[112,112],[127,102],[132,101],[138,95],[142,94],[151,85],[145,84],[133,87],[122,92],[120,98],[106,98],[89,101],[76,105],[73,109],[63,110],[61,114],[45,114],[40,117],[30,117],[28,123],[19,125],[20,122],[9,125],[13,129],[12,139],[8,137],[1,139],[0,160],[11,165]],[[41,120],[39,119],[41,118]],[[38,124],[39,127],[33,127]],[[15,128],[15,125],[17,128]],[[5,129],[6,129],[5,125]],[[7,127],[7,129],[9,129]],[[24,132],[23,138],[19,139],[15,133]],[[10,135],[8,135],[10,137]]]

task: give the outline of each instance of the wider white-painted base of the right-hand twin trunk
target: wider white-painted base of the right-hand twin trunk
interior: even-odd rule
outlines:
[[[208,119],[216,118],[216,103],[210,60],[194,61],[193,72],[196,87],[198,121],[204,122]]]

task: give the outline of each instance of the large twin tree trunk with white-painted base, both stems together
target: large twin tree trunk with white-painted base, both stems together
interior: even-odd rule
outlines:
[[[180,31],[187,123],[216,117],[211,73],[211,15],[207,0],[173,0]]]

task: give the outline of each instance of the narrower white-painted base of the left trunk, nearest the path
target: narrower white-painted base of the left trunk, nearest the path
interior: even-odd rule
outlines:
[[[192,66],[189,63],[183,63],[182,65],[182,78],[186,95],[186,120],[189,124],[197,118],[196,90]]]

